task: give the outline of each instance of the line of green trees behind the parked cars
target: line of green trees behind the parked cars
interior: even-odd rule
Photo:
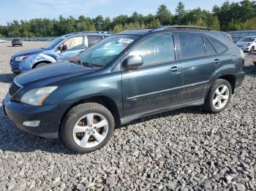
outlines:
[[[155,15],[118,15],[90,18],[81,15],[77,19],[59,16],[58,20],[35,18],[31,20],[12,20],[0,26],[0,37],[61,36],[77,31],[112,31],[118,33],[128,28],[155,27],[165,25],[210,26],[213,30],[233,31],[256,29],[256,1],[243,0],[240,3],[225,1],[222,6],[213,7],[212,12],[200,9],[187,10],[178,3],[175,15],[165,4],[158,7]]]

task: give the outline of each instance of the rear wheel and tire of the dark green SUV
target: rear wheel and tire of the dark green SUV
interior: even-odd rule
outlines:
[[[217,92],[219,90],[219,92]],[[211,113],[219,113],[227,108],[230,103],[232,88],[225,79],[217,79],[208,91],[204,107]]]

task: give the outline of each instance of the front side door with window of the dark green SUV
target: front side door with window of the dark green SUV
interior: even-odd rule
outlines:
[[[125,117],[178,105],[181,63],[176,61],[173,35],[148,37],[129,55],[142,56],[143,66],[122,71]]]

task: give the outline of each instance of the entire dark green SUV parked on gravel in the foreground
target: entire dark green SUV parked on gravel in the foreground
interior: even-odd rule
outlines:
[[[223,32],[192,26],[123,31],[65,63],[14,79],[7,115],[75,152],[104,146],[116,126],[171,109],[222,112],[244,80],[244,52]]]

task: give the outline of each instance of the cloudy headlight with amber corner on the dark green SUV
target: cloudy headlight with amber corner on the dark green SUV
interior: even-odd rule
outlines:
[[[56,90],[58,86],[39,87],[33,90],[29,90],[27,93],[21,96],[20,101],[24,104],[32,106],[42,106],[43,101]]]

